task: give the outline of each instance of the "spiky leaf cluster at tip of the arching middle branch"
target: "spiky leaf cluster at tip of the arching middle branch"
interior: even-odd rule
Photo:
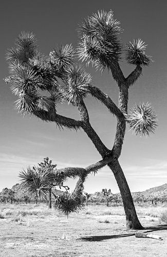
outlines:
[[[76,105],[81,98],[89,93],[91,76],[82,67],[71,66],[66,70],[64,77],[63,97],[68,103]]]

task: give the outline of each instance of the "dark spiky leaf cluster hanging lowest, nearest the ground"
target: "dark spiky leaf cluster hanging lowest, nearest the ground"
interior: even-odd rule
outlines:
[[[68,218],[70,213],[82,209],[83,199],[79,195],[65,193],[55,198],[53,206],[55,210],[62,212]]]

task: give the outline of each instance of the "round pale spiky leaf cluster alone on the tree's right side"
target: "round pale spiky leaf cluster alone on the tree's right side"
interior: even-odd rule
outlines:
[[[150,103],[140,103],[128,114],[127,122],[134,134],[149,136],[150,133],[154,133],[157,126],[157,115],[152,111]]]

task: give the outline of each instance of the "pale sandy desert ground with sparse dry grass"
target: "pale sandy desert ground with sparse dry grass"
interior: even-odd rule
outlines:
[[[97,210],[95,206],[88,207],[70,215],[68,220],[53,210],[48,211],[47,206],[0,205],[0,208],[5,217],[0,218],[2,257],[167,256],[167,225],[160,224],[158,217],[139,215],[144,231],[152,231],[163,237],[163,241],[136,238],[135,230],[126,230],[124,215],[101,215],[103,206]],[[107,210],[114,213],[114,208]],[[28,210],[29,214],[20,215],[15,221],[19,210]],[[36,213],[32,214],[33,210]]]

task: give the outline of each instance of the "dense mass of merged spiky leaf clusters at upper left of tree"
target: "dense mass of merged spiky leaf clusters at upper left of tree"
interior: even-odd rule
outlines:
[[[7,54],[11,76],[5,79],[18,96],[18,112],[37,116],[40,113],[43,117],[45,111],[52,119],[63,100],[76,105],[81,97],[87,96],[91,77],[83,68],[73,65],[74,54],[71,45],[57,46],[47,58],[36,50],[32,33],[18,36],[15,48]],[[46,91],[46,95],[41,91]]]

